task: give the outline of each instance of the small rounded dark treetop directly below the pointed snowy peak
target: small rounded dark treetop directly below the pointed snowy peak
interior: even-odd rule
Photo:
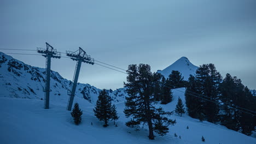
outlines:
[[[181,73],[179,73],[179,71],[172,70],[172,73],[168,76],[167,85],[172,89],[185,87],[185,81],[183,79],[184,77],[182,76]]]

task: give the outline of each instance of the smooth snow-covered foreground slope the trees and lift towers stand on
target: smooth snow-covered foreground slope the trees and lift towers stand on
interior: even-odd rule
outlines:
[[[171,103],[161,105],[165,110],[174,110],[178,97],[184,102],[184,93],[179,92],[184,89],[177,90],[173,90]],[[134,131],[125,126],[124,101],[115,103],[120,116],[118,127],[109,122],[107,128],[94,116],[94,104],[79,97],[75,97],[74,102],[79,103],[84,113],[80,125],[73,123],[63,101],[51,101],[50,109],[45,110],[43,100],[0,98],[0,143],[256,143],[251,136],[222,125],[199,122],[186,114],[182,117],[172,115],[177,123],[170,127],[170,133],[148,140],[148,130]],[[181,135],[181,139],[174,137],[174,133]],[[202,136],[205,142],[201,141]]]

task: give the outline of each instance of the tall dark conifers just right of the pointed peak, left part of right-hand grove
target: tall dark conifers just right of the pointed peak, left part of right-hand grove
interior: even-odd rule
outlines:
[[[211,101],[219,100],[220,82],[222,82],[222,76],[213,64],[203,64],[196,70],[196,77],[189,77],[185,91],[189,116],[200,117],[201,120],[205,119],[209,122],[219,121],[219,105]],[[207,100],[205,100],[206,97],[208,97]]]

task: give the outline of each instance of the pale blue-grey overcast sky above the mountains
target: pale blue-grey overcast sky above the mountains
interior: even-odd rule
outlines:
[[[162,70],[182,56],[213,63],[256,89],[256,1],[0,1],[0,48],[57,51],[82,47],[91,57],[127,69],[147,63]],[[4,51],[2,52],[24,52]],[[36,53],[36,52],[27,52]],[[42,56],[11,55],[36,67]],[[75,62],[53,59],[52,70],[72,80]],[[126,75],[82,64],[79,82],[120,88]]]

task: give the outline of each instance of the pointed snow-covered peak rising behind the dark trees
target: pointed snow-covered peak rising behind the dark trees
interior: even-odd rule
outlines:
[[[189,75],[195,75],[198,67],[192,64],[187,57],[181,57],[169,67],[158,70],[158,73],[164,75],[166,78],[172,73],[172,70],[178,70],[184,76],[184,80],[188,80]]]

